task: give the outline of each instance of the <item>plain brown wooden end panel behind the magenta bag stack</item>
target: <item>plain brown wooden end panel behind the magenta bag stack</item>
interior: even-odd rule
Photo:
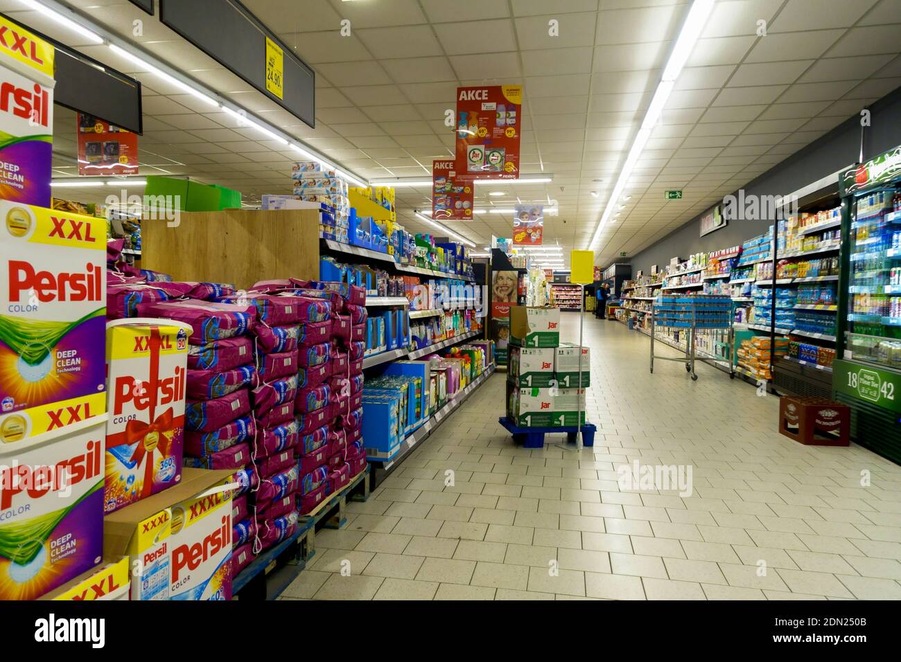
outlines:
[[[141,267],[176,280],[233,283],[319,277],[319,213],[309,209],[181,212],[177,227],[141,223]]]

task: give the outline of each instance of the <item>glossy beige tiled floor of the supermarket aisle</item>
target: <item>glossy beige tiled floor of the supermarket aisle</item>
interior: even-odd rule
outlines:
[[[563,435],[516,448],[493,376],[348,504],[345,530],[317,534],[283,597],[901,599],[901,467],[788,440],[776,397],[713,367],[696,382],[673,362],[649,374],[648,338],[623,324],[586,316],[585,333],[594,448]],[[578,340],[577,313],[563,340]],[[690,465],[693,494],[620,491],[616,468],[635,459]]]

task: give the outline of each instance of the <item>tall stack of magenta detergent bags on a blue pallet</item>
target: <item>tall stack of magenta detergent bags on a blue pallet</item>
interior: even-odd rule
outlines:
[[[167,282],[159,274],[142,283],[122,276],[111,288],[116,313],[187,328],[173,341],[187,358],[185,377],[173,382],[187,393],[182,410],[172,412],[183,424],[184,443],[169,449],[178,453],[179,470],[222,471],[236,487],[223,584],[230,590],[241,570],[296,539],[305,531],[305,513],[366,467],[360,439],[365,293],[296,279],[236,291]]]

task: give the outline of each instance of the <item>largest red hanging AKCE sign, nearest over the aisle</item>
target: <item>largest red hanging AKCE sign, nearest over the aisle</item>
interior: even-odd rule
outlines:
[[[519,177],[522,86],[457,88],[457,170],[477,178]]]

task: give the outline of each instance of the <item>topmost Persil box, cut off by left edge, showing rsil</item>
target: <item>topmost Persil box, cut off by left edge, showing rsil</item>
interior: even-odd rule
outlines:
[[[50,206],[53,46],[0,16],[0,198]]]

